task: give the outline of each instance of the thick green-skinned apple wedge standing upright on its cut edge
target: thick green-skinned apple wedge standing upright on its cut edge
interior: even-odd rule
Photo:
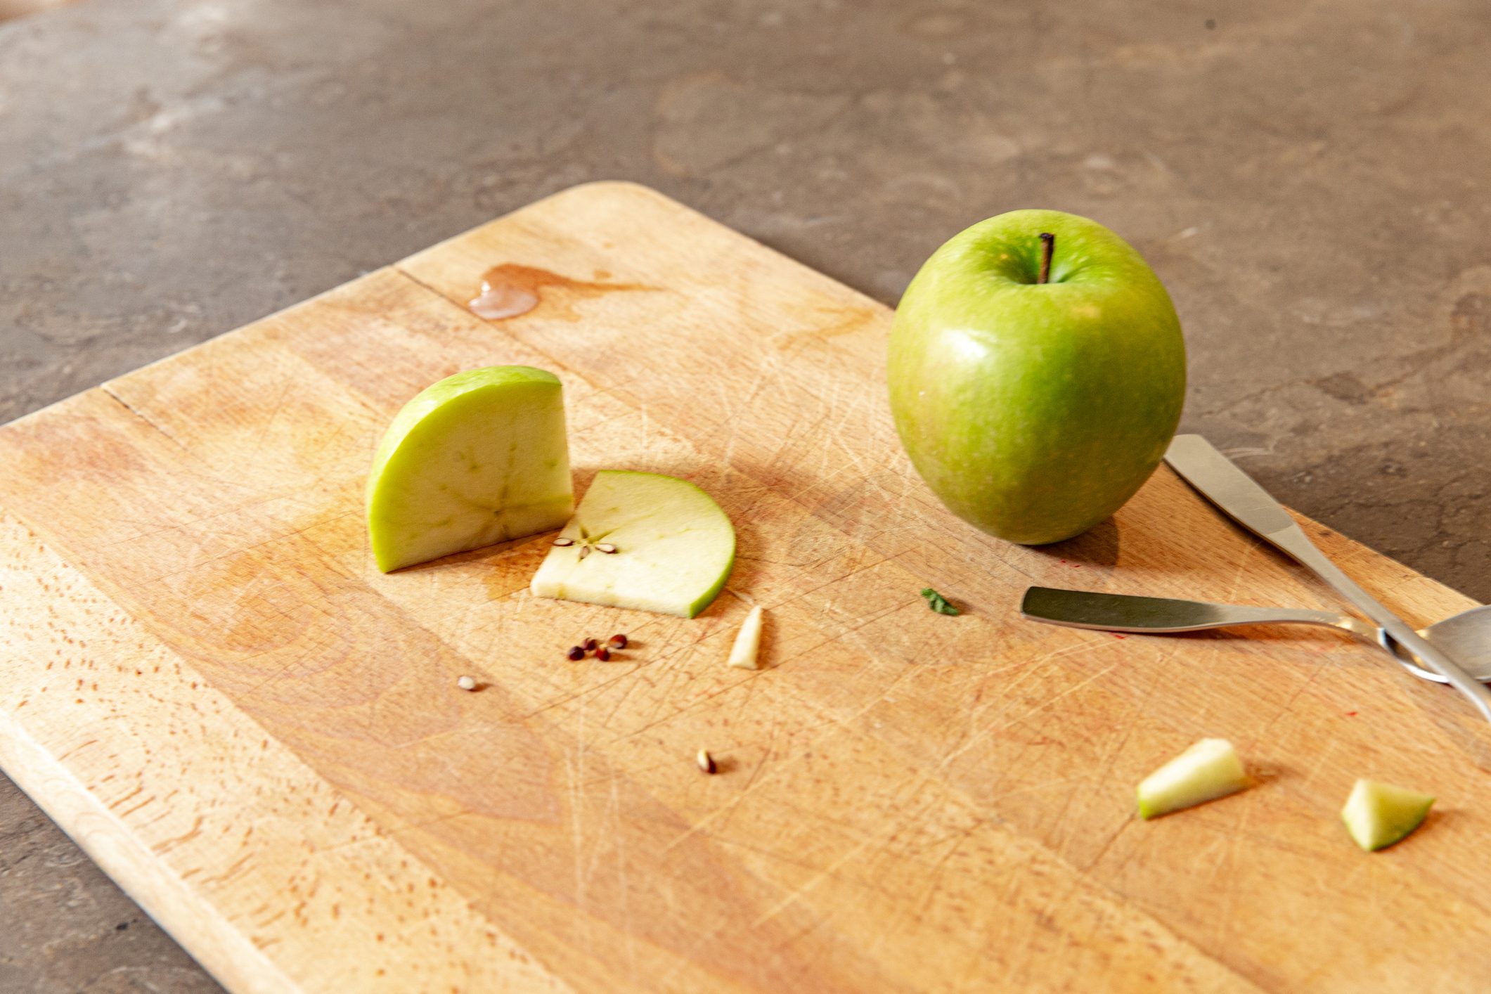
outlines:
[[[367,511],[383,572],[559,528],[574,513],[559,377],[486,367],[420,390],[379,443]]]

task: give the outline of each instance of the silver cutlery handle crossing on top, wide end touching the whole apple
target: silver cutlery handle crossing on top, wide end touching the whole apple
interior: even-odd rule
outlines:
[[[1410,651],[1421,663],[1449,681],[1470,699],[1487,721],[1491,721],[1491,690],[1460,668],[1455,660],[1425,642],[1403,618],[1393,614],[1370,593],[1343,574],[1315,547],[1288,511],[1239,469],[1227,456],[1200,435],[1176,435],[1164,460],[1202,496],[1226,511],[1233,520],[1291,556],[1306,569],[1328,583],[1363,614],[1382,626],[1393,639]]]

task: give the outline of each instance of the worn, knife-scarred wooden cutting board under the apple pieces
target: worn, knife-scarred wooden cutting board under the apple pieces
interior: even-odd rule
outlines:
[[[537,306],[476,317],[494,267]],[[1029,584],[1339,605],[1167,469],[1062,545],[956,520],[892,431],[889,323],[598,183],[13,422],[0,765],[239,991],[1484,987],[1491,729],[1327,630],[1021,621]],[[531,598],[544,538],[373,568],[383,426],[507,362],[564,380],[579,487],[731,514],[701,617]],[[1470,604],[1306,526],[1409,620]],[[723,665],[750,602],[759,672]],[[1257,787],[1138,821],[1202,736]],[[1357,776],[1440,800],[1366,855]]]

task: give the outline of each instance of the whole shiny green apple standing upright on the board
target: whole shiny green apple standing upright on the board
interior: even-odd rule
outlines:
[[[911,280],[887,379],[901,443],[948,510],[1041,545],[1109,517],[1160,465],[1185,341],[1127,241],[1077,215],[1014,210],[950,238]]]

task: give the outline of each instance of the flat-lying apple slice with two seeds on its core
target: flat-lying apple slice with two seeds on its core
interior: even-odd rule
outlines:
[[[532,592],[692,618],[735,562],[735,528],[710,495],[656,472],[602,469],[549,550]]]

